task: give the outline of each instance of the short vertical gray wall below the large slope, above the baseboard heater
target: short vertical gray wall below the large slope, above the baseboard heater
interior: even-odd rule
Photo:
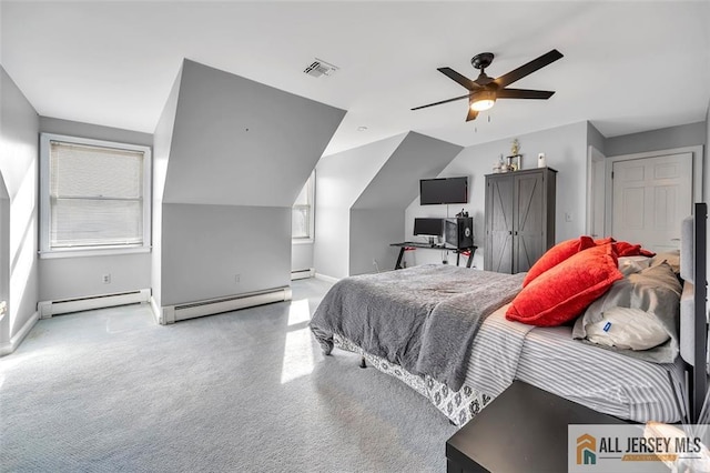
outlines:
[[[291,283],[291,208],[164,203],[162,244],[163,306]]]

